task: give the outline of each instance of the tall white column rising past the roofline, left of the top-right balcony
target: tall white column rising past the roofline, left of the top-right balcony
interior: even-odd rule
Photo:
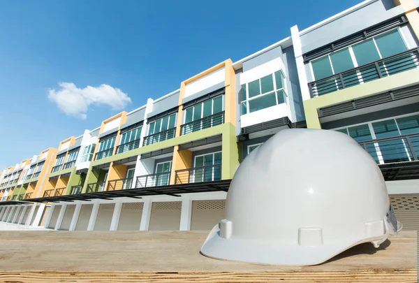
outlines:
[[[309,86],[307,85],[309,82],[307,81],[307,73],[304,67],[304,58],[302,57],[302,48],[301,48],[301,38],[300,38],[300,31],[298,27],[295,25],[291,27],[291,38],[293,40],[293,49],[295,55],[295,62],[297,64],[297,73],[298,73],[298,80],[300,81],[300,89],[301,89],[301,96],[302,100],[311,99]]]

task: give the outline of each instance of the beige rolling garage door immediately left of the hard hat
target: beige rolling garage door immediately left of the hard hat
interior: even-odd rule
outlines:
[[[225,218],[226,201],[193,201],[191,230],[210,231]]]

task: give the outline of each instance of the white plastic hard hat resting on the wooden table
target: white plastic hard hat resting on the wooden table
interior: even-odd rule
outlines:
[[[240,164],[226,219],[201,252],[231,261],[307,266],[349,247],[378,247],[397,222],[376,161],[344,133],[288,129]]]

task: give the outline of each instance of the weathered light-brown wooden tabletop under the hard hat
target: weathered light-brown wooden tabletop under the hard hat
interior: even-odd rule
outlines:
[[[318,266],[199,254],[207,231],[1,231],[0,282],[416,282],[416,231]]]

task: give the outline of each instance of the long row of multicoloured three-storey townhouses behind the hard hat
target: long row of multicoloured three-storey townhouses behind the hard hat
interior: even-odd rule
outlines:
[[[307,127],[360,143],[404,228],[418,229],[418,7],[367,0],[302,31],[294,26],[274,45],[11,166],[0,177],[0,221],[209,230],[247,154],[283,129]],[[310,140],[307,147],[316,150]],[[325,174],[321,164],[312,161],[312,170]]]

